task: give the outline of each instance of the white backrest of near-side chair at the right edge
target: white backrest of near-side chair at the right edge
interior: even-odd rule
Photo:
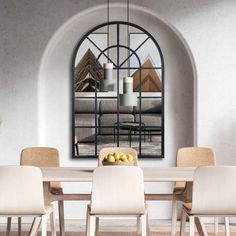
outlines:
[[[236,166],[199,167],[194,173],[192,210],[236,214]]]

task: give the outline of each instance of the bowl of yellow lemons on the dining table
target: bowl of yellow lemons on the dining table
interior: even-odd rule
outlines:
[[[134,165],[134,157],[130,153],[114,152],[108,153],[106,157],[103,158],[102,164],[107,165]]]

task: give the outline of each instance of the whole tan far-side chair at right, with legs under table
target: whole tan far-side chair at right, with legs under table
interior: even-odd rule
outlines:
[[[207,147],[184,147],[177,151],[176,158],[177,167],[200,167],[216,165],[214,151]],[[182,194],[185,190],[185,182],[176,182],[173,192]],[[172,203],[172,229],[171,235],[176,234],[177,222],[177,200]],[[227,223],[227,219],[226,219]],[[218,218],[215,218],[215,233],[218,232]]]

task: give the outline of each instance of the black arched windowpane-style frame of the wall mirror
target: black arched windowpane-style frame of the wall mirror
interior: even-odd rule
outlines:
[[[130,69],[131,67],[127,67],[127,68],[122,68],[122,65],[126,62],[126,60],[128,60],[132,55],[135,55],[135,57],[138,60],[138,64],[139,66],[135,69],[139,70],[139,106],[141,108],[141,70],[142,70],[142,65],[141,65],[141,61],[140,58],[138,57],[136,51],[138,50],[138,48],[140,48],[141,46],[139,46],[138,48],[136,48],[135,50],[132,50],[130,47],[119,44],[119,29],[120,29],[120,25],[126,25],[126,26],[132,26],[134,28],[137,28],[138,30],[142,31],[144,34],[146,34],[148,37],[145,39],[145,42],[148,39],[151,39],[152,42],[155,44],[159,55],[160,55],[160,60],[161,60],[161,66],[160,67],[153,67],[154,69],[161,69],[161,81],[162,81],[162,91],[161,91],[161,155],[143,155],[142,154],[142,150],[141,150],[141,131],[139,131],[139,154],[141,153],[141,155],[139,155],[139,158],[164,158],[164,153],[165,153],[165,149],[164,149],[164,143],[165,143],[165,119],[164,119],[164,114],[165,114],[165,110],[164,110],[164,104],[165,104],[165,66],[164,66],[164,57],[163,57],[163,53],[161,51],[160,45],[157,43],[156,39],[148,32],[146,31],[144,28],[142,28],[139,25],[136,25],[134,23],[131,22],[125,22],[125,21],[111,21],[111,22],[106,22],[100,25],[97,25],[96,27],[92,28],[91,30],[89,30],[82,38],[81,40],[78,42],[78,44],[75,47],[73,56],[72,56],[72,60],[71,60],[71,98],[72,98],[72,103],[71,103],[71,147],[72,147],[72,158],[98,158],[98,153],[97,153],[97,102],[95,102],[95,155],[82,155],[82,156],[76,156],[75,155],[75,148],[74,148],[74,138],[75,138],[75,119],[74,119],[74,104],[75,104],[75,90],[74,90],[74,66],[75,66],[75,60],[76,60],[76,55],[78,53],[78,50],[80,48],[80,46],[82,45],[82,43],[84,42],[85,39],[89,39],[88,36],[90,34],[92,34],[93,32],[95,32],[96,30],[105,27],[105,26],[110,26],[110,25],[117,25],[117,44],[115,45],[111,45],[108,46],[107,48],[103,49],[102,51],[99,49],[100,54],[97,57],[97,61],[99,60],[99,58],[104,55],[109,62],[113,63],[113,65],[115,65],[115,68],[118,72],[117,72],[117,80],[119,80],[119,69]],[[90,39],[89,39],[90,40]],[[91,41],[91,40],[90,40]],[[143,44],[143,43],[142,43]],[[96,46],[96,45],[95,45]],[[111,49],[111,48],[117,48],[117,64],[114,63],[109,56],[107,56],[104,52]],[[121,65],[119,65],[119,49],[120,48],[126,48],[127,50],[129,50],[131,52],[131,54],[129,54],[129,56],[126,58],[125,61],[123,61],[121,63]],[[147,68],[145,68],[147,69]],[[95,82],[95,86],[97,86],[97,83]],[[117,91],[119,91],[119,82],[117,83]],[[95,92],[95,100],[97,100],[97,92]],[[148,97],[151,98],[151,97]],[[117,98],[117,122],[119,123],[119,96]],[[141,121],[141,109],[139,109],[139,120]],[[141,125],[141,123],[139,122],[139,125]],[[118,131],[118,136],[119,136],[119,128],[117,129]],[[117,138],[117,146],[119,146],[119,138]]]

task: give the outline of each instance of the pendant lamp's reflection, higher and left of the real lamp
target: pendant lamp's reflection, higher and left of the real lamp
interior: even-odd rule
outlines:
[[[104,80],[99,85],[100,92],[116,91],[116,82],[113,80],[113,64],[103,63]]]

